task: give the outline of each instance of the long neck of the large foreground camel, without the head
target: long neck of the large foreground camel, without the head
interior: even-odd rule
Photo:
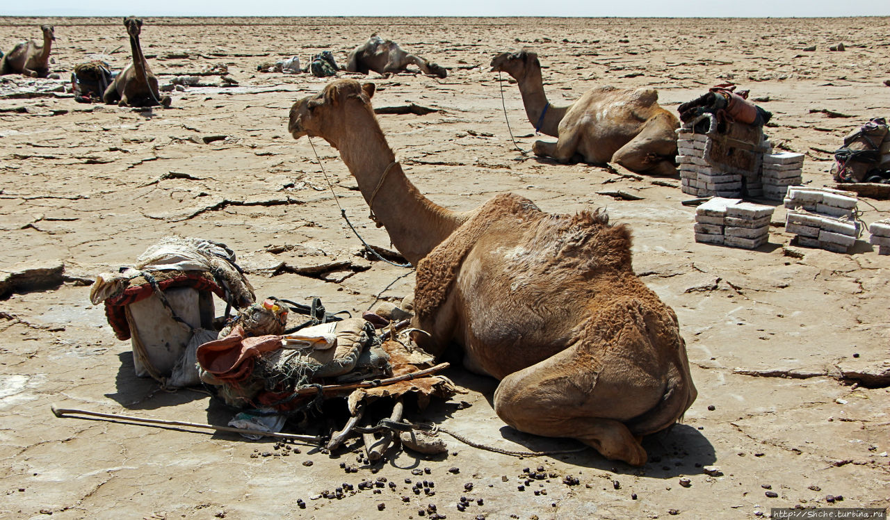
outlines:
[[[371,202],[373,196],[374,213],[389,233],[392,245],[416,266],[462,220],[453,211],[425,198],[409,181],[401,164],[392,164],[395,154],[383,131],[370,111],[367,117],[368,121],[350,118],[337,146],[365,201]]]

